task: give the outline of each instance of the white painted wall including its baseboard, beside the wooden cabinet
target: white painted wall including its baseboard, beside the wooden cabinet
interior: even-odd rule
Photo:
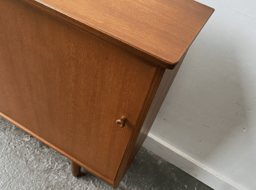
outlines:
[[[256,0],[197,1],[215,12],[143,146],[215,190],[256,190]]]

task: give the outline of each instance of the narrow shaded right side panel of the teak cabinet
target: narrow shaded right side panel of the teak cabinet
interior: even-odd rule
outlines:
[[[143,120],[144,122],[142,123],[140,120],[138,120],[135,125],[134,133],[132,135],[137,136],[137,140],[136,140],[136,142],[135,141],[132,142],[131,140],[129,142],[129,145],[125,152],[125,156],[126,156],[126,154],[129,153],[130,157],[128,158],[128,157],[124,156],[121,166],[119,168],[118,174],[116,176],[116,179],[114,181],[114,185],[113,185],[114,188],[118,187],[119,183],[121,182],[122,178],[124,177],[125,173],[127,172],[128,168],[130,167],[131,162],[134,160],[134,157],[140,150],[140,147],[143,145],[143,142],[145,141],[151,126],[153,125],[154,119],[156,118],[157,113],[160,110],[161,105],[163,104],[163,101],[172,85],[173,80],[175,79],[175,76],[176,76],[185,56],[186,56],[186,53],[183,55],[182,59],[176,65],[176,67],[174,69],[172,69],[172,70],[166,69],[164,71],[163,75],[162,75],[163,71],[159,71],[159,74],[156,74],[156,76],[155,76],[156,78],[155,78],[155,82],[154,82],[155,85],[151,86],[152,90],[149,91],[149,93],[151,93],[151,95],[148,94],[148,96],[151,98],[146,99],[148,101],[148,104],[150,105],[150,108],[148,109],[148,107],[146,107],[147,103],[145,102],[143,105],[143,109],[146,110],[144,112],[144,114],[146,114],[146,116],[142,114],[143,109],[141,110],[141,114],[140,114],[140,116],[144,119]],[[163,77],[161,77],[161,75]],[[161,81],[159,81],[160,78],[162,78]],[[157,90],[155,88],[157,88]],[[142,127],[139,131],[140,126],[142,126]],[[136,128],[138,128],[138,129],[136,130]]]

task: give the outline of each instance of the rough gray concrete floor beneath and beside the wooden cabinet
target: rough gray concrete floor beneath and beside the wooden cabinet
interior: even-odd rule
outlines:
[[[83,168],[0,117],[0,190],[113,190]],[[118,190],[212,190],[141,147]]]

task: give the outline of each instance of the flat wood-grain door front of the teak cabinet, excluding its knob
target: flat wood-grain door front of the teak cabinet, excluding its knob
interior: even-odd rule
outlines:
[[[0,112],[113,184],[157,68],[19,0],[0,18]]]

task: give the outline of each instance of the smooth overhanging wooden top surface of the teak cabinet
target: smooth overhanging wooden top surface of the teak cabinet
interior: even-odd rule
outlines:
[[[26,0],[41,3],[119,43],[176,64],[214,9],[194,0]]]

